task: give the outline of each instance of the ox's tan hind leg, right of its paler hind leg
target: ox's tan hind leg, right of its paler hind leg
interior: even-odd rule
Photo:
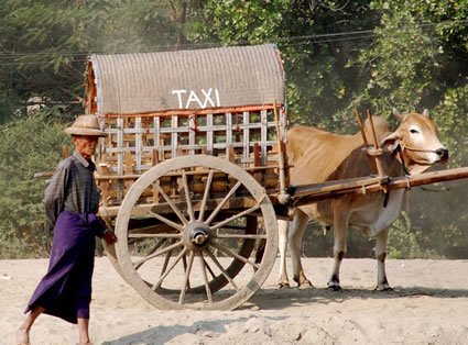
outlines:
[[[297,210],[291,224],[289,238],[291,261],[293,266],[293,279],[295,282],[297,282],[297,286],[301,289],[313,287],[311,281],[305,277],[301,263],[301,244],[304,231],[307,226],[307,222],[308,216],[304,212]]]

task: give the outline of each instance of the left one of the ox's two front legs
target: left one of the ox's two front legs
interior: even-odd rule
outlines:
[[[339,268],[348,246],[348,223],[349,212],[346,208],[339,208],[339,203],[336,202],[334,204],[334,268],[327,283],[328,289],[335,291],[341,290],[339,282]]]

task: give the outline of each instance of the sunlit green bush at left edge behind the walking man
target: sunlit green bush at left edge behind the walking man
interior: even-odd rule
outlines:
[[[34,174],[53,171],[62,147],[69,144],[56,110],[17,118],[0,132],[0,257],[43,255],[50,234],[44,230],[44,180]]]

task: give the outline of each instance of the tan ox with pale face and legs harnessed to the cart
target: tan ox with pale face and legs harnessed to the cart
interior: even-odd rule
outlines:
[[[437,127],[423,114],[400,114],[396,131],[391,132],[385,120],[372,116],[377,138],[383,151],[381,162],[383,172],[389,177],[418,174],[436,162],[448,159],[448,151],[437,137]],[[372,137],[369,120],[364,133]],[[363,149],[360,133],[337,135],[315,127],[296,126],[287,132],[287,156],[292,166],[291,181],[295,185],[319,183],[325,181],[366,177],[374,174],[369,156]],[[279,221],[280,235],[280,287],[289,287],[285,254],[290,244],[293,279],[298,287],[312,287],[301,264],[301,242],[309,219],[334,230],[334,267],[328,288],[340,290],[339,268],[347,251],[348,227],[352,226],[376,236],[376,258],[378,263],[377,289],[391,289],[385,275],[388,231],[399,216],[406,190],[396,189],[383,192],[347,196],[327,199],[314,204],[294,209],[291,230],[287,221]]]

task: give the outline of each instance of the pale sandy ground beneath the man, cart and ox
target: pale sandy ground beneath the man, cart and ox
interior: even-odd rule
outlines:
[[[388,260],[394,291],[373,291],[371,259],[346,259],[340,292],[325,289],[329,258],[304,259],[316,288],[277,290],[277,263],[235,311],[160,311],[96,259],[95,344],[468,344],[468,260]],[[0,260],[0,343],[14,344],[47,260]],[[32,344],[76,344],[75,325],[42,315]]]

